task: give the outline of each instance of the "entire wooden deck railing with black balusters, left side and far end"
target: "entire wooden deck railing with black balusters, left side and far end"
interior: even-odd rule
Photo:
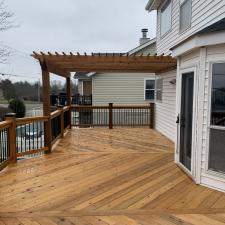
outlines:
[[[154,104],[149,106],[60,106],[43,117],[16,119],[7,114],[0,122],[0,170],[9,162],[50,153],[71,126],[154,127]]]

